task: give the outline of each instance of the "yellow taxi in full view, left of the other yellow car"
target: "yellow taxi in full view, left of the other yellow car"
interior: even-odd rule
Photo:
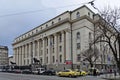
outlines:
[[[67,69],[57,73],[58,76],[67,76],[67,77],[77,77],[78,74],[79,74],[78,72],[73,71],[71,69]]]

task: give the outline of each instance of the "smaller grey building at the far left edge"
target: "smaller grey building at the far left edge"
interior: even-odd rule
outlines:
[[[0,66],[8,65],[8,47],[0,46]]]

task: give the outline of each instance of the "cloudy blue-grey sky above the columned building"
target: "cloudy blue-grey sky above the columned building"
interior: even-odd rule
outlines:
[[[8,46],[11,55],[14,38],[89,1],[91,0],[0,0],[0,45]],[[95,1],[95,6],[100,9],[107,5],[120,7],[119,4],[119,0]]]

